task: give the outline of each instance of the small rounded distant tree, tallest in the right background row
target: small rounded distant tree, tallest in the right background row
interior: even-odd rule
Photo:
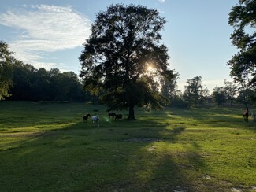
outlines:
[[[189,106],[195,105],[195,107],[197,107],[199,103],[202,103],[206,99],[209,91],[207,88],[202,87],[201,76],[195,76],[192,79],[188,79],[187,84],[188,85],[185,86],[183,98]]]

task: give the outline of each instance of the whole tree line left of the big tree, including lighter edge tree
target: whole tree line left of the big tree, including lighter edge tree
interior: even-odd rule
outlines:
[[[75,72],[36,69],[13,57],[5,42],[0,42],[0,49],[0,99],[62,102],[90,99]]]

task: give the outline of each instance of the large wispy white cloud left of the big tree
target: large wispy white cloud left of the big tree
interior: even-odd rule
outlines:
[[[71,6],[23,5],[0,13],[0,24],[18,31],[9,46],[32,65],[43,63],[46,53],[81,46],[91,33],[91,21]]]

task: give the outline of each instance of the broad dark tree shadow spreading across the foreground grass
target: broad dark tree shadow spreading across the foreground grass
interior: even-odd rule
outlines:
[[[130,124],[76,123],[2,146],[3,191],[195,190],[206,164],[196,143],[182,144],[185,127],[158,120]],[[118,125],[118,126],[113,126]],[[8,135],[12,138],[12,135]],[[202,185],[203,186],[203,185]],[[197,186],[198,187],[198,186]],[[204,186],[206,187],[206,186]]]

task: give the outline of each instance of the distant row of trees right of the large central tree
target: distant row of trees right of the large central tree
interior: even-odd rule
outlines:
[[[202,77],[187,79],[187,85],[182,93],[176,90],[174,94],[165,94],[176,107],[198,107],[205,105],[234,105],[234,102],[249,107],[256,102],[256,92],[253,87],[243,83],[233,83],[224,79],[224,85],[214,87],[210,91],[202,86]]]

